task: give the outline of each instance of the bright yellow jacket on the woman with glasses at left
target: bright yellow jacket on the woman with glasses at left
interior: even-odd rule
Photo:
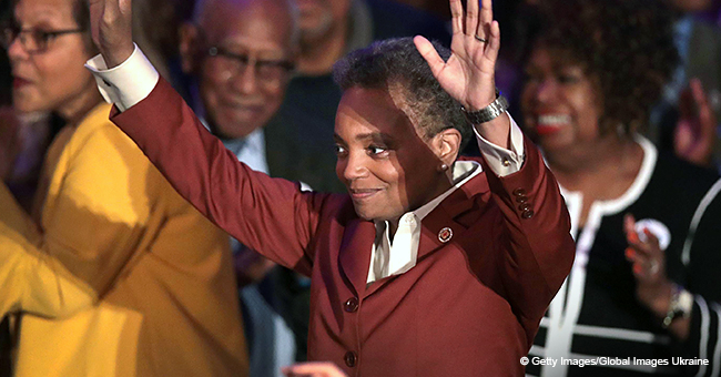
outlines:
[[[16,376],[247,375],[227,236],[109,112],[53,141],[39,232],[0,190],[0,314],[23,313]]]

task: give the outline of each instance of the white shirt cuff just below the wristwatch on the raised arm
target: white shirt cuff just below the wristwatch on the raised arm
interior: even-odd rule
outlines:
[[[510,114],[508,114],[508,118],[510,118],[510,151],[487,141],[478,133],[476,128],[473,128],[480,153],[483,153],[486,162],[498,176],[518,172],[526,157],[524,154],[524,134],[514,118]]]

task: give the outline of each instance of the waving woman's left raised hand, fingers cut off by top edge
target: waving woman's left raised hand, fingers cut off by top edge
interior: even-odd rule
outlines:
[[[131,0],[89,0],[90,31],[108,68],[133,53]]]

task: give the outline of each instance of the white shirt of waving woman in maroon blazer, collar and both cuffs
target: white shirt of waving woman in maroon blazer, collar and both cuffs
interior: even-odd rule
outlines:
[[[145,99],[160,78],[138,45],[128,60],[110,70],[100,54],[89,60],[85,67],[95,77],[98,89],[105,101],[114,103],[121,112]],[[474,132],[480,152],[496,175],[506,176],[520,170],[525,160],[524,136],[512,118],[510,118],[510,150],[488,142],[475,128]],[[423,218],[444,198],[480,172],[478,163],[456,162],[453,171],[454,186],[416,211],[400,216],[393,240],[389,238],[389,224],[377,222],[367,282],[403,274],[413,268],[418,256]]]

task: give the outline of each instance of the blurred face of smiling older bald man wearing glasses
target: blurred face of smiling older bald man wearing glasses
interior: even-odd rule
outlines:
[[[251,2],[213,12],[200,39],[201,100],[213,132],[226,139],[244,137],[273,116],[294,59],[287,9]]]

